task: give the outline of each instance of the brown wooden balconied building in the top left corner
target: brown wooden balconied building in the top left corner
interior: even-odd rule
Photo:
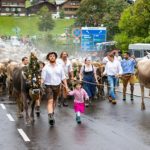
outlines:
[[[25,0],[0,0],[1,15],[20,15],[26,13]]]

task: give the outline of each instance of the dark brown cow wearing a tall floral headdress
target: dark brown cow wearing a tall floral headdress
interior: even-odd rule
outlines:
[[[32,59],[37,58],[31,54]],[[16,98],[18,106],[18,117],[23,117],[25,111],[25,122],[30,125],[34,122],[34,109],[36,101],[40,98],[40,72],[36,61],[30,62],[29,66],[17,67],[13,71],[13,96]],[[33,68],[32,68],[33,67]],[[28,113],[29,104],[31,105],[30,115]]]

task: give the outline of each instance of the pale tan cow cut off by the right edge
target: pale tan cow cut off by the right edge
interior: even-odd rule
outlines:
[[[142,59],[137,63],[136,75],[141,87],[142,103],[141,109],[145,110],[144,87],[150,89],[150,59]]]

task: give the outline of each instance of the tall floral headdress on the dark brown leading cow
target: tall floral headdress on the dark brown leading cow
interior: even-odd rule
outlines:
[[[41,75],[40,75],[40,65],[38,58],[32,52],[30,54],[29,66],[28,66],[28,80],[30,81],[30,87],[33,89],[40,88]]]

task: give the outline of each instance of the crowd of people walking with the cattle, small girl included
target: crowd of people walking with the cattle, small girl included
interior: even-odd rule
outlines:
[[[81,123],[81,113],[84,113],[85,106],[88,107],[96,95],[98,77],[96,67],[92,64],[90,57],[84,59],[82,67],[79,69],[79,76],[75,78],[72,62],[69,60],[68,53],[63,51],[58,58],[56,52],[49,52],[46,56],[47,63],[40,62],[41,87],[45,89],[47,99],[47,111],[49,124],[55,124],[54,112],[58,100],[58,106],[68,106],[68,96],[74,96],[74,111],[76,121]],[[133,91],[135,82],[134,56],[126,52],[119,56],[116,52],[108,53],[103,58],[102,63],[105,65],[102,77],[107,78],[108,99],[112,104],[117,104],[115,87],[119,86],[119,79],[123,83],[123,101],[126,101],[126,88],[130,83],[131,101],[133,101]],[[28,58],[22,59],[22,64],[28,64]],[[70,85],[73,85],[70,86]],[[37,108],[40,108],[40,101],[37,102]]]

